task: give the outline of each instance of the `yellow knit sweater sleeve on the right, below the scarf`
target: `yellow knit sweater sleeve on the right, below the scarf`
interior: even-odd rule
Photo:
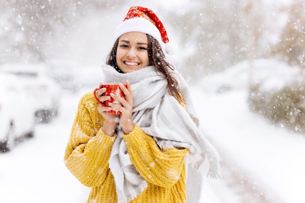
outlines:
[[[189,149],[160,149],[138,126],[123,138],[133,165],[147,182],[171,187],[178,181]]]

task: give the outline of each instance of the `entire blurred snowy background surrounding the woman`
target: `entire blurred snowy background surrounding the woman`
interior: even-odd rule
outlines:
[[[151,8],[177,45],[169,60],[223,157],[223,180],[207,181],[203,202],[304,203],[304,0],[0,0],[0,196],[20,201],[17,187],[21,202],[41,202],[49,176],[60,185],[50,202],[86,200],[64,148],[133,5]]]

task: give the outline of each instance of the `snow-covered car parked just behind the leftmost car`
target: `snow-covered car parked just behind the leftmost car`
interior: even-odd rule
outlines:
[[[28,97],[33,98],[38,123],[49,123],[58,115],[61,88],[46,74],[46,66],[42,64],[7,64],[0,71],[19,77]]]

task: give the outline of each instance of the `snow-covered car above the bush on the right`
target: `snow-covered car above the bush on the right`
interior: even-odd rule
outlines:
[[[246,90],[249,85],[279,89],[288,81],[295,80],[300,69],[272,59],[246,60],[226,70],[210,74],[202,79],[200,86],[205,92],[227,92]]]

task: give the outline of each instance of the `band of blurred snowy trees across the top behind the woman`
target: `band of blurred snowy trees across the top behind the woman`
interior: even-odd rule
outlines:
[[[135,4],[160,16],[179,47],[175,65],[192,81],[245,59],[304,66],[303,0],[1,0],[0,63],[99,65]]]

